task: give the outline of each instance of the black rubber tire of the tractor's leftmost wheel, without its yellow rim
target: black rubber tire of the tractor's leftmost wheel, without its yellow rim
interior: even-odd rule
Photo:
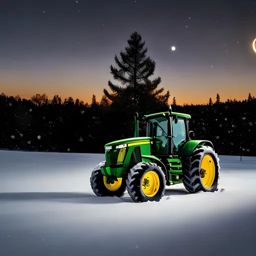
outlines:
[[[122,178],[121,185],[118,189],[111,191],[109,190],[103,181],[103,174],[101,173],[100,167],[105,164],[105,161],[100,162],[94,170],[91,172],[90,176],[90,186],[97,196],[117,196],[122,197],[126,191],[125,179]]]

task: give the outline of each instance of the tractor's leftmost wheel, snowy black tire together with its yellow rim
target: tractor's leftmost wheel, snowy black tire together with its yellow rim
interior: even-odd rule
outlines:
[[[114,181],[113,184],[106,183],[106,176],[101,173],[100,167],[105,164],[105,161],[100,162],[90,176],[90,186],[97,196],[117,196],[122,197],[126,190],[125,180],[117,178],[118,181]]]

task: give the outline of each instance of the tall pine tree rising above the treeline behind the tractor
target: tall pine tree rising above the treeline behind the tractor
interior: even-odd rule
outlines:
[[[115,85],[108,80],[112,93],[104,88],[104,95],[113,102],[126,101],[126,104],[133,103],[134,105],[141,104],[145,96],[154,97],[156,100],[168,98],[168,91],[165,95],[159,95],[163,88],[156,90],[161,81],[160,77],[153,81],[148,79],[154,74],[155,62],[150,57],[146,57],[147,47],[143,48],[145,41],[142,41],[141,35],[133,32],[127,42],[126,52],[120,51],[121,60],[116,55],[114,57],[117,67],[110,65],[113,78],[125,87]]]

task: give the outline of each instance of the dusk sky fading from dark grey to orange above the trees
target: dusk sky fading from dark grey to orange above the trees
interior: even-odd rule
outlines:
[[[99,101],[133,31],[170,101],[256,96],[255,0],[0,0],[0,93]]]

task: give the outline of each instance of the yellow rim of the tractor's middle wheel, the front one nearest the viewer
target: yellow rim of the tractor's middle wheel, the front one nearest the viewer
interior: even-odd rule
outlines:
[[[149,197],[154,196],[157,193],[159,186],[160,186],[159,176],[155,171],[149,170],[142,177],[141,188],[143,193],[146,196],[149,196]]]

